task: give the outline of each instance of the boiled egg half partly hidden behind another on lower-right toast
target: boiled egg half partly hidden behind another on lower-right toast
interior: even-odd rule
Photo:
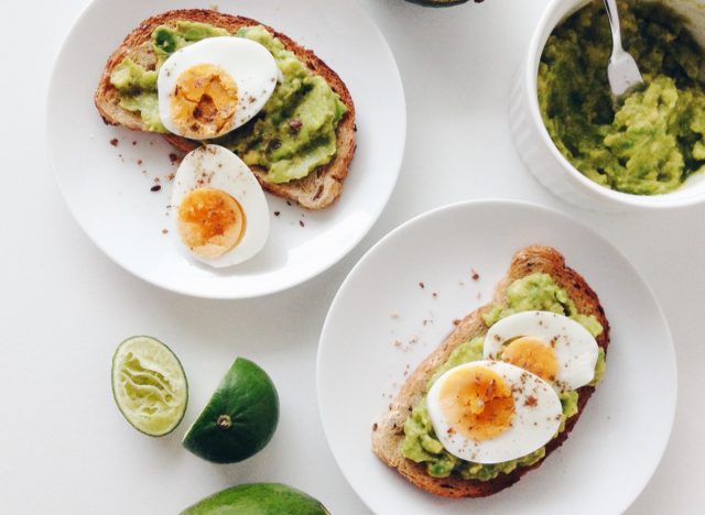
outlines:
[[[558,390],[576,390],[595,377],[599,349],[593,335],[571,318],[522,311],[489,329],[482,353],[527,369]]]

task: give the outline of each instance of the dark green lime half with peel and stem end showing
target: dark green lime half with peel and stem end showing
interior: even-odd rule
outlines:
[[[267,446],[279,421],[274,383],[238,358],[184,437],[186,449],[216,463],[242,461]]]

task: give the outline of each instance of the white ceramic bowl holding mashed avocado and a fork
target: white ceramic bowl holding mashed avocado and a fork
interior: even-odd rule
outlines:
[[[651,1],[651,0],[642,0]],[[688,29],[705,48],[705,0],[663,0],[688,20]],[[553,0],[536,28],[527,58],[519,70],[510,101],[510,124],[522,161],[546,188],[586,209],[619,212],[692,206],[705,201],[705,174],[691,176],[675,191],[641,196],[608,189],[581,174],[554,145],[546,131],[536,94],[536,76],[543,47],[555,26],[588,3]],[[605,63],[607,66],[607,63]]]

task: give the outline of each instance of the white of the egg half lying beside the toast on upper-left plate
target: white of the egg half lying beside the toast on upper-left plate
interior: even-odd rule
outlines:
[[[221,189],[235,198],[245,212],[246,227],[239,243],[219,258],[191,255],[210,266],[231,266],[254,256],[269,237],[270,216],[262,187],[250,168],[232,152],[218,145],[204,145],[186,154],[174,176],[172,206],[178,224],[178,206],[197,188]],[[178,227],[173,231],[180,243]]]

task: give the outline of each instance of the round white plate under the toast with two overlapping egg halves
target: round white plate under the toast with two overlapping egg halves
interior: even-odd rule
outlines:
[[[514,486],[487,498],[435,497],[372,454],[372,423],[405,372],[441,343],[454,319],[491,299],[512,254],[532,243],[555,246],[599,295],[612,328],[605,381],[563,447]],[[556,211],[489,200],[422,215],[360,260],[326,318],[317,387],[330,449],[376,513],[620,513],[668,442],[676,370],[657,300],[614,246]]]

